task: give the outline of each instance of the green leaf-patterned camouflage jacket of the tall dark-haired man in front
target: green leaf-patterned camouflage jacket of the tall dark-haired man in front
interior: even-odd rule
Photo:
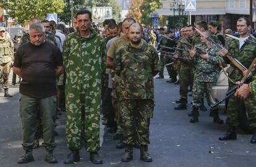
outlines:
[[[101,77],[106,69],[106,44],[93,28],[90,31],[88,38],[82,38],[79,31],[75,31],[64,41],[62,57],[67,91],[90,88],[96,94],[100,92]]]

